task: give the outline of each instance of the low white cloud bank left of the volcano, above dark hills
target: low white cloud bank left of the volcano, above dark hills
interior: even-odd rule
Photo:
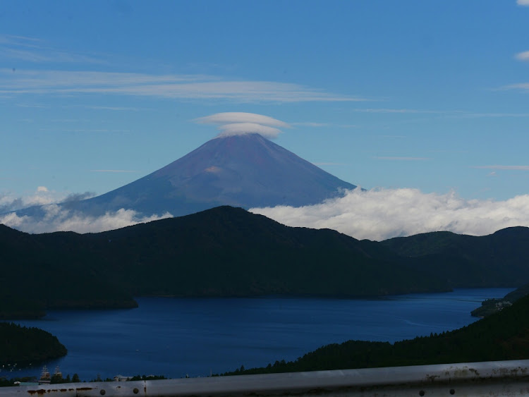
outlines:
[[[48,204],[43,209],[45,215],[42,219],[34,219],[31,216],[18,216],[16,212],[11,212],[0,215],[0,224],[27,233],[49,233],[52,231],[98,233],[172,217],[169,212],[162,215],[140,216],[132,209],[123,208],[116,212],[107,212],[103,216],[89,216],[71,212],[68,209],[62,209],[57,204]]]

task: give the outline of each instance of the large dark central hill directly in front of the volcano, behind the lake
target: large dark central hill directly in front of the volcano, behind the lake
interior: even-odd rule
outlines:
[[[444,290],[389,250],[218,207],[90,236],[134,293],[365,296]]]

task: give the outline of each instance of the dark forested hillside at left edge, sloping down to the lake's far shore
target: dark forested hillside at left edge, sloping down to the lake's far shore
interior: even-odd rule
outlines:
[[[130,293],[101,276],[82,241],[76,233],[0,228],[0,318],[39,317],[51,307],[134,307]]]

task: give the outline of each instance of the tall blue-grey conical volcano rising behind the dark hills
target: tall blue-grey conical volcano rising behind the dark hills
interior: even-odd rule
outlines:
[[[121,208],[146,216],[182,216],[219,205],[317,204],[355,187],[259,134],[245,134],[214,138],[128,185],[61,205],[97,216]],[[40,211],[33,207],[17,213],[35,216]]]

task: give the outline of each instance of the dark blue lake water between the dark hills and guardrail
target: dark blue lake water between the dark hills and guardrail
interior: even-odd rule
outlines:
[[[116,374],[207,376],[244,365],[295,360],[310,350],[348,339],[400,341],[457,329],[476,319],[470,310],[513,288],[458,289],[452,293],[382,300],[320,298],[138,298],[131,310],[50,311],[37,326],[56,335],[68,355],[53,370],[80,379]],[[39,376],[41,366],[7,372]]]

